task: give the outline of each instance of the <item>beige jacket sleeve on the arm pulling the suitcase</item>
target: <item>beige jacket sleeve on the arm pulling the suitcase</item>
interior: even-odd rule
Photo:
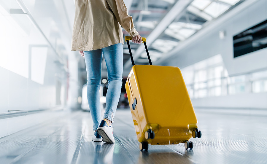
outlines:
[[[128,11],[123,0],[106,1],[120,25],[131,35],[131,37],[138,35],[138,32],[134,28],[133,18],[128,15]]]

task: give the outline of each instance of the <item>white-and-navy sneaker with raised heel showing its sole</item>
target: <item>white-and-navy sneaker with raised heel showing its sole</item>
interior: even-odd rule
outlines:
[[[106,120],[102,120],[100,122],[96,131],[100,134],[100,136],[102,136],[103,142],[115,143],[113,127],[112,125],[109,126]]]

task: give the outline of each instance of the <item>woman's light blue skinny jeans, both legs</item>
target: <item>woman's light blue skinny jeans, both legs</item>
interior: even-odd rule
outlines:
[[[93,130],[96,130],[101,122],[99,89],[101,85],[102,54],[107,65],[107,78],[109,84],[104,118],[113,122],[120,99],[122,85],[122,46],[122,43],[118,43],[102,49],[83,52],[87,72],[87,99],[93,119]]]

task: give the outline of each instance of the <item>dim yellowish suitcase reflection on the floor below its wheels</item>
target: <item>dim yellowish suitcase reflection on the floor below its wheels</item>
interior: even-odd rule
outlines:
[[[188,150],[191,153],[192,149]],[[140,155],[138,158],[138,164],[145,163],[184,163],[184,164],[193,164],[187,157],[179,155],[175,152],[148,152],[148,151],[140,151]]]

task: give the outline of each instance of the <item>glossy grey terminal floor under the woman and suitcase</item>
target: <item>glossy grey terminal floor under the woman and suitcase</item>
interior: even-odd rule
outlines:
[[[115,144],[92,142],[90,113],[73,112],[18,133],[0,138],[0,163],[267,163],[266,117],[212,114],[196,115],[202,137],[184,144],[149,145],[139,142],[129,110],[117,110]]]

